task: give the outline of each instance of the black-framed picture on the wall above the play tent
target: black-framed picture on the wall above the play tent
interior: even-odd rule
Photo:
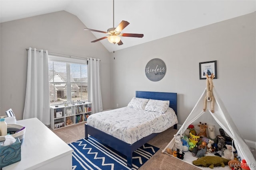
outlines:
[[[206,79],[206,74],[210,76],[212,73],[215,76],[214,78],[217,78],[217,61],[207,61],[199,63],[200,80]]]

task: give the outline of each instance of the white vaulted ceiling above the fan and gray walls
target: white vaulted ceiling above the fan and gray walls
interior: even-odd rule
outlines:
[[[61,10],[76,15],[90,29],[113,27],[112,0],[0,0],[0,21]],[[96,43],[116,51],[255,11],[255,0],[115,0],[114,27],[125,20],[130,24],[122,33],[143,33],[144,37],[121,37],[124,44],[119,46],[107,39]],[[106,36],[92,33],[95,39]]]

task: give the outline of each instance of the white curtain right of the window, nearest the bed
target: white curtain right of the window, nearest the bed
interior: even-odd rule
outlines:
[[[92,113],[103,110],[100,90],[100,59],[88,58],[88,102],[92,102]]]

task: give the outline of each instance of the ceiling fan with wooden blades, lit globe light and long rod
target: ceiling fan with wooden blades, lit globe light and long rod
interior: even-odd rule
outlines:
[[[97,41],[100,41],[102,39],[106,39],[108,38],[108,41],[110,43],[117,43],[118,45],[122,45],[123,42],[121,41],[121,37],[138,37],[138,38],[142,38],[144,35],[143,34],[134,34],[134,33],[121,33],[121,31],[130,23],[128,21],[124,21],[122,20],[119,25],[117,27],[114,27],[114,0],[113,0],[113,27],[109,28],[106,31],[99,31],[99,30],[95,30],[95,29],[89,29],[89,28],[85,28],[84,30],[89,30],[89,31],[95,31],[95,32],[99,32],[99,33],[106,33],[108,34],[108,36],[96,39],[94,41],[91,41],[91,43],[95,43]]]

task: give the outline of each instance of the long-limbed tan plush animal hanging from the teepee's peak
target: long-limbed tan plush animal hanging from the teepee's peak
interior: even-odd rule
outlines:
[[[206,111],[207,102],[211,102],[211,112],[214,113],[214,96],[212,94],[213,90],[213,83],[212,79],[214,78],[214,74],[209,77],[206,74],[206,96],[204,98],[204,111]]]

